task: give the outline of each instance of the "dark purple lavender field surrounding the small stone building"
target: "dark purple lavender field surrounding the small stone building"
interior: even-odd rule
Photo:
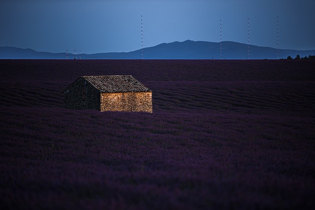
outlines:
[[[133,75],[153,114],[63,108]],[[315,61],[0,60],[4,209],[313,209]]]

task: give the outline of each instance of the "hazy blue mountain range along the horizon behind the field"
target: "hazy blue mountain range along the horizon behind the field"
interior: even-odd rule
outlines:
[[[248,45],[223,41],[222,59],[248,59]],[[220,42],[191,41],[162,43],[143,49],[143,59],[220,59]],[[279,49],[279,59],[315,55],[315,50]],[[97,53],[76,55],[77,59],[141,59],[141,49],[127,53]],[[32,49],[0,47],[0,59],[65,59],[65,53],[36,52]],[[69,53],[68,59],[74,59]],[[277,49],[250,45],[250,59],[277,59]]]

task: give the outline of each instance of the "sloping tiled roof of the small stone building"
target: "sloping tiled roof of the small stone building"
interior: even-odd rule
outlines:
[[[100,92],[151,92],[131,75],[82,76]]]

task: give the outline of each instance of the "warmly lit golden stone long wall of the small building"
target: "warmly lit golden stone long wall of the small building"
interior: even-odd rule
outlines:
[[[152,92],[100,93],[100,111],[153,112]]]

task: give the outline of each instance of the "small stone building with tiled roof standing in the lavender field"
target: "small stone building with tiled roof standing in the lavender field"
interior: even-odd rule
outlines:
[[[152,91],[131,75],[81,76],[63,90],[67,109],[153,112]]]

